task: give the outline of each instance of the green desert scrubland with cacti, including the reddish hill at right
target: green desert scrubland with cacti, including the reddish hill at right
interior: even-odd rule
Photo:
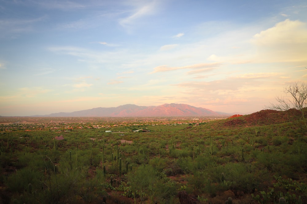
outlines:
[[[307,137],[287,111],[0,120],[0,203],[166,204],[183,191],[191,203],[307,203]]]

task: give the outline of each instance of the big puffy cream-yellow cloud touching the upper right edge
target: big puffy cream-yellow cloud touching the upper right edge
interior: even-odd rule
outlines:
[[[256,45],[258,62],[306,62],[307,24],[289,19],[257,33],[251,42]]]

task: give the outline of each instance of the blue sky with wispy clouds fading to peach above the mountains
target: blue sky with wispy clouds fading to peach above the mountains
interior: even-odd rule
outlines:
[[[300,0],[0,0],[0,115],[254,113],[307,83]]]

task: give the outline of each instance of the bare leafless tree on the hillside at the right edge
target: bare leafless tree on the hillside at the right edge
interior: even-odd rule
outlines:
[[[291,98],[276,97],[277,104],[270,103],[266,109],[290,111],[290,114],[297,119],[301,128],[307,130],[307,84],[306,83],[293,83],[284,87],[285,94],[290,94]],[[306,112],[306,113],[305,113]]]

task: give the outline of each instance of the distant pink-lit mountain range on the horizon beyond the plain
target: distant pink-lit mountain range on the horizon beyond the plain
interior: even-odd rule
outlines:
[[[161,106],[137,106],[126,104],[111,108],[93,108],[71,113],[53,113],[40,117],[150,117],[150,116],[218,116],[225,115],[206,108],[187,104],[163,104]],[[38,115],[36,115],[38,116]]]

